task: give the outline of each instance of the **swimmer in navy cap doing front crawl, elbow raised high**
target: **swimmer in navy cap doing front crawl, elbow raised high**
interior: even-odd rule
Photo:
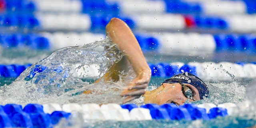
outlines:
[[[96,82],[100,80],[116,82],[119,80],[120,73],[126,70],[128,66],[132,66],[137,76],[122,92],[121,96],[126,97],[123,103],[144,96],[145,104],[175,103],[181,105],[186,101],[202,100],[208,96],[209,92],[206,84],[200,78],[188,72],[165,80],[155,90],[146,91],[151,78],[151,69],[132,30],[124,21],[112,18],[106,26],[106,36],[111,38],[112,42],[118,46],[125,56],[119,62],[113,64],[106,74]],[[85,91],[84,93],[89,94],[90,92]]]

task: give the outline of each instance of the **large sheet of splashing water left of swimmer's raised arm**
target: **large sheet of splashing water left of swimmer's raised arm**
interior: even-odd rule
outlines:
[[[62,48],[27,68],[10,86],[1,87],[1,104],[120,103],[124,82],[91,82],[100,78],[122,56],[108,37],[84,46]],[[84,78],[81,80],[74,75],[81,68],[84,72],[92,72],[86,68],[92,65],[98,67],[95,76],[81,74],[79,77]],[[132,75],[128,78],[132,79]],[[92,94],[81,94],[84,90],[92,90]]]

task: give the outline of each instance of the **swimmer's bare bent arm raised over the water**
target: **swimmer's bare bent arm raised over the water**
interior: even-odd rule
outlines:
[[[125,103],[139,98],[146,92],[146,87],[148,86],[151,78],[151,70],[146,62],[137,39],[129,26],[118,18],[112,18],[107,24],[106,35],[111,38],[112,42],[117,44],[118,48],[127,57],[127,59],[123,58],[116,65],[112,66],[111,72],[108,73],[113,74],[114,72],[115,75],[120,74],[119,68],[123,68],[122,66],[124,66],[125,61],[128,60],[126,64],[130,62],[133,70],[137,74],[136,78],[129,83],[128,88],[122,92],[121,96],[127,96],[123,102]],[[112,77],[115,78],[118,76]]]

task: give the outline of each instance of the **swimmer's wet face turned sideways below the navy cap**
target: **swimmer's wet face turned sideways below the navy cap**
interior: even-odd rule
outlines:
[[[193,99],[200,100],[198,90],[192,86],[191,84],[184,84],[193,92]],[[179,83],[163,83],[162,86],[156,89],[155,92],[151,93],[150,95],[144,96],[144,102],[147,103],[155,103],[155,104],[167,104],[167,103],[175,103],[177,105],[182,105],[186,101],[193,102],[191,98],[187,98],[184,96],[182,92],[182,86]]]

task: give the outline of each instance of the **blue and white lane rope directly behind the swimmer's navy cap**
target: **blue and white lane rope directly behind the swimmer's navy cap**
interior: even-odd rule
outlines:
[[[206,64],[206,65],[205,65]],[[2,78],[17,78],[26,68],[30,67],[32,64],[26,64],[26,65],[20,65],[20,64],[0,64],[0,77]],[[212,75],[220,75],[220,71],[214,70],[215,68],[218,68],[218,65],[222,65],[225,68],[225,65],[228,66],[231,70],[243,70],[245,73],[250,73],[251,77],[256,77],[256,62],[251,63],[245,63],[245,62],[237,62],[237,63],[230,63],[230,62],[220,62],[218,64],[215,64],[214,62],[209,63],[189,63],[189,64],[182,64],[178,66],[177,64],[170,64],[170,63],[158,63],[158,64],[152,64],[148,63],[151,74],[153,77],[171,77],[176,74],[180,74],[182,72],[189,72],[192,74],[195,74],[196,76],[204,76],[208,75],[210,72],[212,72]],[[207,66],[207,69],[204,69],[204,66]],[[230,69],[226,70],[230,70]],[[30,69],[30,74],[25,78],[25,80],[30,80],[34,77],[36,73],[43,72],[46,70],[46,66],[42,65],[35,65],[34,68]],[[58,67],[58,69],[55,69],[56,72],[62,72],[62,68]],[[96,71],[95,71],[96,72]],[[80,72],[82,73],[82,72]],[[206,74],[204,74],[206,73]],[[246,74],[244,74],[246,76]],[[244,77],[241,76],[241,77]],[[206,77],[206,76],[205,76]],[[212,77],[212,76],[211,76]],[[214,76],[218,77],[218,76]],[[239,76],[236,76],[239,78]],[[222,79],[221,77],[218,77],[219,79]],[[212,78],[214,79],[214,78]]]

